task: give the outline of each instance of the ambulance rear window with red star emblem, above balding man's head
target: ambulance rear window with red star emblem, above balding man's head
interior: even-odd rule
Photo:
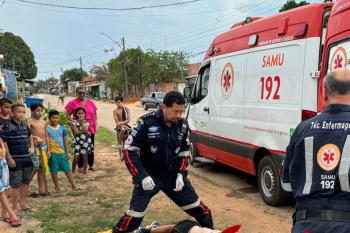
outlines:
[[[329,49],[327,73],[347,68],[350,69],[350,40],[338,42]]]

